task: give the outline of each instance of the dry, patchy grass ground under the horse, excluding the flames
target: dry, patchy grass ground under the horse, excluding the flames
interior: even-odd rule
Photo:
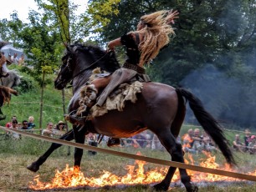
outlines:
[[[40,167],[38,173],[35,174],[26,169],[28,164],[31,164],[34,160],[38,159],[39,155],[43,154],[46,149],[48,149],[49,143],[24,138],[21,140],[13,139],[0,139],[0,169],[1,169],[1,178],[0,178],[0,191],[28,191],[28,182],[33,181],[33,177],[37,174],[40,174],[40,180],[44,182],[49,182],[55,173],[55,169],[63,170],[66,164],[70,166],[74,164],[73,154],[74,149],[71,148],[71,155],[67,156],[68,147],[63,146],[57,149],[47,161]],[[101,146],[105,147],[105,146]],[[137,149],[133,148],[115,148],[115,150],[128,152],[136,154]],[[140,149],[141,154],[146,156],[151,156],[161,159],[170,159],[169,154],[162,151]],[[202,159],[203,155],[195,155],[195,162]],[[253,171],[256,169],[256,159],[250,154],[241,154],[236,153],[235,157],[239,164],[239,170]],[[187,158],[187,155],[186,155]],[[223,157],[220,154],[216,154],[216,162],[222,164]],[[134,165],[135,160],[125,159],[121,157],[116,157],[110,154],[101,154],[98,153],[95,156],[90,156],[84,151],[84,156],[82,159],[82,171],[87,177],[98,177],[102,174],[102,170],[110,171],[112,174],[123,176],[127,174],[125,167],[127,165]],[[155,169],[160,167],[156,164],[146,164],[145,170]],[[173,186],[172,186],[173,187]],[[234,182],[233,184],[223,184],[217,185],[211,184],[207,186],[199,186],[200,191],[248,191],[253,192],[256,189],[256,184],[248,182]],[[61,191],[61,190],[60,190]],[[77,189],[77,190],[65,190],[65,191],[95,191],[95,189]],[[150,186],[146,185],[136,185],[129,186],[125,188],[100,188],[97,191],[152,191]],[[185,191],[181,186],[173,187],[171,191]]]

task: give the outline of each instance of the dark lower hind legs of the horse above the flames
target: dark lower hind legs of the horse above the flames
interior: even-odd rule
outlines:
[[[167,132],[167,133],[166,133]],[[161,132],[157,134],[158,139],[161,141],[161,144],[166,148],[166,150],[171,154],[172,160],[184,163],[183,154],[182,154],[182,145],[177,143],[176,138],[171,134],[169,129],[166,129],[166,132]],[[160,184],[156,184],[154,187],[157,190],[167,190],[171,183],[172,176],[177,168],[170,167],[165,179],[161,181]],[[185,185],[187,192],[197,191],[197,186],[193,185],[188,176],[186,169],[179,169],[181,174],[182,183]]]

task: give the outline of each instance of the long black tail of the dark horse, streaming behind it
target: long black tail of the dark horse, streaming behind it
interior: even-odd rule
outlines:
[[[233,159],[233,154],[228,147],[228,140],[224,137],[223,130],[218,124],[217,120],[212,117],[202,106],[202,102],[197,99],[192,93],[184,88],[177,88],[176,92],[178,95],[182,95],[188,100],[189,106],[192,109],[194,115],[197,118],[199,124],[201,124],[202,129],[213,139],[215,144],[223,153],[225,159],[229,164],[235,164]]]

